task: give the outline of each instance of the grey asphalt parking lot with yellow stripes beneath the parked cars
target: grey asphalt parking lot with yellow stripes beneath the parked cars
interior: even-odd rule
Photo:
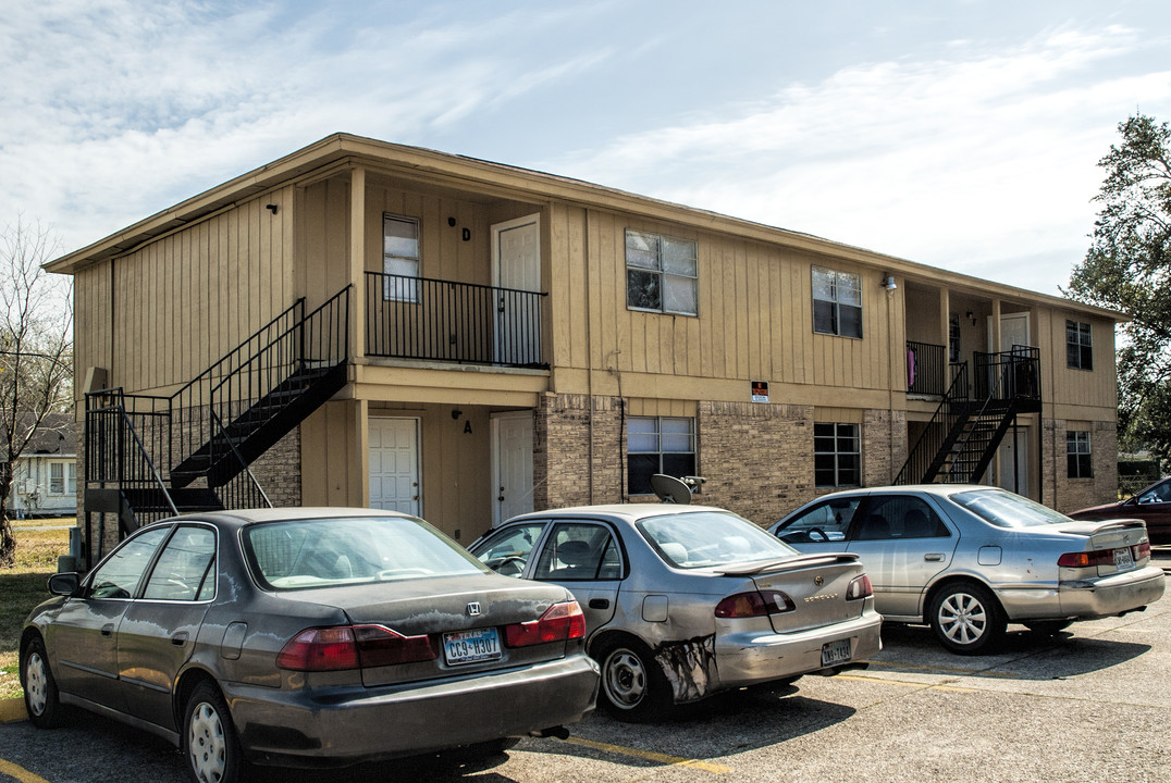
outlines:
[[[1171,549],[1157,556],[1171,569]],[[886,626],[883,639],[868,671],[725,694],[665,723],[594,714],[568,741],[525,740],[507,755],[261,769],[249,779],[1171,781],[1171,596],[1057,639],[1011,626],[993,655],[949,654],[926,627]],[[0,726],[0,781],[183,779],[173,748],[91,715],[54,732]]]

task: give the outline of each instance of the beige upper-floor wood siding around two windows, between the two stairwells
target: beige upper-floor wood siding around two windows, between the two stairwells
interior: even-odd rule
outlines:
[[[553,269],[554,366],[835,389],[889,383],[902,294],[888,294],[878,272],[611,213],[554,207],[550,222],[554,259],[568,260]],[[696,240],[698,317],[626,309],[628,228]],[[861,275],[862,339],[814,334],[815,265]]]

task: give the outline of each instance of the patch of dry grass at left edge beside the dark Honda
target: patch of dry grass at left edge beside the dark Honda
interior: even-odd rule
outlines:
[[[13,520],[16,535],[16,565],[0,568],[0,699],[21,695],[18,657],[20,629],[28,613],[50,598],[46,581],[57,570],[57,557],[69,554],[69,531],[39,530],[52,526],[73,526],[63,520]]]

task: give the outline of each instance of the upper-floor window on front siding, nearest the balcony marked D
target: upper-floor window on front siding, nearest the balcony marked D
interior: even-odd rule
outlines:
[[[626,232],[626,307],[631,310],[697,315],[698,277],[694,241]]]

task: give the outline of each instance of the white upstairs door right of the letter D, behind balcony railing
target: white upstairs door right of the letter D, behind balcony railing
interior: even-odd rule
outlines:
[[[492,227],[492,261],[497,291],[497,355],[501,364],[540,364],[540,298],[522,291],[541,290],[541,215],[528,215]]]

